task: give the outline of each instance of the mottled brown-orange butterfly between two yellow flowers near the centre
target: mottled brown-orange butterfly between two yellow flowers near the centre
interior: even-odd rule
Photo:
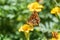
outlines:
[[[30,18],[28,19],[28,24],[38,25],[40,23],[40,18],[37,12],[33,12]]]

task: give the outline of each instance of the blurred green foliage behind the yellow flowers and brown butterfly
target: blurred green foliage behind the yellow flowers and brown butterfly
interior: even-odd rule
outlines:
[[[32,12],[27,5],[36,0],[0,0],[0,40],[25,40],[23,32],[18,32]],[[60,32],[60,18],[51,14],[55,6],[60,6],[60,0],[40,0],[44,9],[39,12],[40,24],[30,32],[30,40],[47,40],[52,31]]]

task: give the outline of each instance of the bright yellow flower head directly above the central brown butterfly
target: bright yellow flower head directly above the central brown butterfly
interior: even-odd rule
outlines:
[[[38,2],[34,2],[28,5],[28,8],[30,11],[41,11],[41,8],[43,8],[42,5],[40,5]]]

